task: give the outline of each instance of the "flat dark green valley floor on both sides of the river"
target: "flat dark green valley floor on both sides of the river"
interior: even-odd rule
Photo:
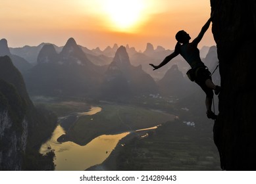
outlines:
[[[91,107],[90,103],[67,99],[38,104],[59,116],[86,112]],[[101,112],[81,116],[65,125],[69,135],[76,135],[77,143],[84,145],[94,137],[111,132],[131,130],[132,133],[120,140],[107,160],[87,170],[221,170],[213,141],[213,122],[200,114],[198,108],[195,113],[175,103],[167,104],[165,99],[137,99],[133,105],[105,102],[96,106],[102,108]],[[158,110],[152,110],[153,106]],[[184,120],[193,120],[195,124]],[[159,124],[157,129],[134,131]]]

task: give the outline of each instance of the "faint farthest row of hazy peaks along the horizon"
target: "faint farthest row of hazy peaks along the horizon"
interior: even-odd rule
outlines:
[[[36,65],[39,51],[41,51],[43,45],[53,45],[57,53],[61,53],[64,47],[58,47],[57,45],[51,43],[41,43],[40,45],[34,47],[26,45],[21,48],[10,48],[10,51],[14,55],[25,58],[31,64]],[[86,53],[86,57],[88,57],[93,64],[98,66],[106,66],[110,64],[115,57],[116,50],[118,49],[118,45],[116,43],[113,45],[113,47],[107,46],[103,50],[99,49],[99,47],[91,50],[81,45],[78,45],[78,47],[80,47],[82,51]],[[178,68],[183,74],[186,74],[186,70],[189,68],[189,66],[186,65],[186,62],[180,62],[180,60],[183,60],[183,58],[178,56],[172,60],[169,67],[163,67],[155,72],[152,70],[151,66],[149,66],[149,63],[159,64],[163,58],[172,53],[171,50],[165,49],[160,45],[154,48],[151,43],[147,43],[145,51],[136,51],[135,47],[130,47],[128,44],[125,47],[132,65],[139,66],[141,64],[142,69],[147,72],[147,74],[150,74],[155,80],[163,78],[164,73],[172,66],[172,64],[177,64]],[[207,46],[201,48],[200,55],[202,59],[206,57],[209,48],[210,47]]]

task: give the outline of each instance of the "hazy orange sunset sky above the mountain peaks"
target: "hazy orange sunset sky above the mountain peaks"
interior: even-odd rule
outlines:
[[[210,0],[0,0],[0,39],[9,47],[42,42],[105,49],[114,43],[145,50],[147,43],[173,49],[174,35],[192,39],[211,14]],[[211,26],[199,47],[215,45]]]

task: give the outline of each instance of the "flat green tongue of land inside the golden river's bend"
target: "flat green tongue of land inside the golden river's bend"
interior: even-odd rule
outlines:
[[[121,104],[100,104],[101,112],[91,116],[81,116],[70,126],[64,141],[86,145],[99,135],[115,135],[158,126],[175,116],[138,106]]]

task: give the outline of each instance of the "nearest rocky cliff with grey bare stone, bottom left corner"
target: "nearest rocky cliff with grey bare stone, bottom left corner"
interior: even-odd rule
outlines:
[[[0,170],[21,170],[28,139],[27,106],[16,89],[0,78]]]

